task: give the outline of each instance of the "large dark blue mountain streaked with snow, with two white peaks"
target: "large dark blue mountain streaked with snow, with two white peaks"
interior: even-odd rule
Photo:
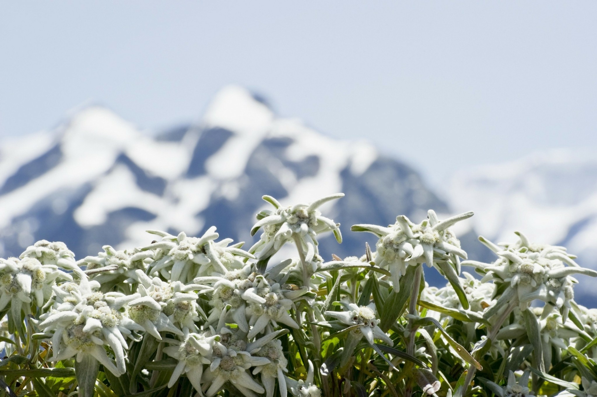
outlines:
[[[5,142],[0,155],[2,256],[44,238],[82,258],[104,244],[145,245],[153,239],[147,229],[196,235],[211,225],[250,245],[254,216],[269,205],[263,194],[291,204],[346,193],[322,208],[344,236],[339,246],[322,240],[326,260],[360,256],[364,241],[375,243],[350,232],[353,224],[387,225],[399,214],[418,222],[430,208],[448,213],[415,170],[368,142],[338,141],[276,117],[237,86],[222,89],[201,122],[157,137],[91,106],[55,131]],[[461,235],[467,248],[474,236]]]

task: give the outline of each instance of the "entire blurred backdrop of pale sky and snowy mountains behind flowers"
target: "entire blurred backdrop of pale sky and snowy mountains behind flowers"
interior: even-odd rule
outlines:
[[[211,225],[249,245],[263,194],[343,191],[323,209],[344,236],[324,238],[326,260],[375,242],[352,224],[432,208],[475,212],[456,230],[471,258],[494,259],[479,234],[521,231],[597,268],[595,14],[586,0],[1,2],[0,256],[44,238],[82,258]]]

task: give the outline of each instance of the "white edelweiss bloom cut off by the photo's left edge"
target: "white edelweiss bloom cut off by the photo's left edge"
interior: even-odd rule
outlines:
[[[38,259],[0,259],[0,310],[11,303],[11,317],[21,322],[21,309],[30,314],[30,303],[41,308],[52,293],[56,279],[72,280],[72,276],[56,265],[42,265]],[[23,305],[25,303],[25,305]]]

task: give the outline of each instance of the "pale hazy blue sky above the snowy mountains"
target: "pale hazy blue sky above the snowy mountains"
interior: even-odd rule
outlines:
[[[595,1],[0,0],[0,135],[87,100],[141,128],[238,83],[431,181],[553,147],[597,153]]]

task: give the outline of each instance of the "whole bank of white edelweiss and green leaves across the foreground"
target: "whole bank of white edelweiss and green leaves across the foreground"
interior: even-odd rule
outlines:
[[[496,259],[468,260],[451,227],[473,213],[433,210],[354,225],[374,250],[326,261],[319,236],[342,237],[319,208],[343,196],[263,196],[245,250],[211,227],[79,260],[45,240],[0,259],[0,393],[597,397],[597,309],[574,301],[574,275],[596,271],[521,232],[479,237]]]

